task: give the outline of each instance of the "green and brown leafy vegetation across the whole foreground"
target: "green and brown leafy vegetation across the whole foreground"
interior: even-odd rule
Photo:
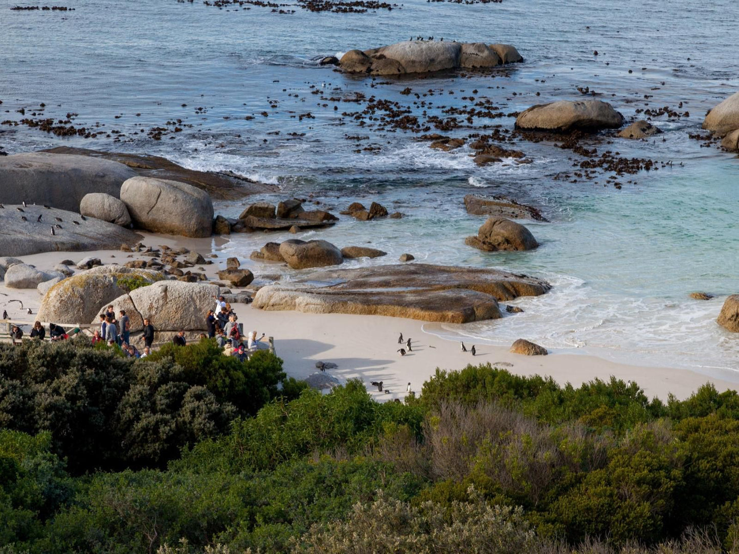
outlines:
[[[0,346],[0,552],[738,552],[738,445],[710,385],[482,365],[377,403],[211,341]]]

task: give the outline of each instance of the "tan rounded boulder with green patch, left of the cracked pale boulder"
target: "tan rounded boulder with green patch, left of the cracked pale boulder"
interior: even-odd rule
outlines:
[[[93,267],[51,287],[41,301],[38,319],[59,324],[97,321],[101,307],[107,307],[120,295],[163,278],[162,273],[154,270],[119,265]]]

